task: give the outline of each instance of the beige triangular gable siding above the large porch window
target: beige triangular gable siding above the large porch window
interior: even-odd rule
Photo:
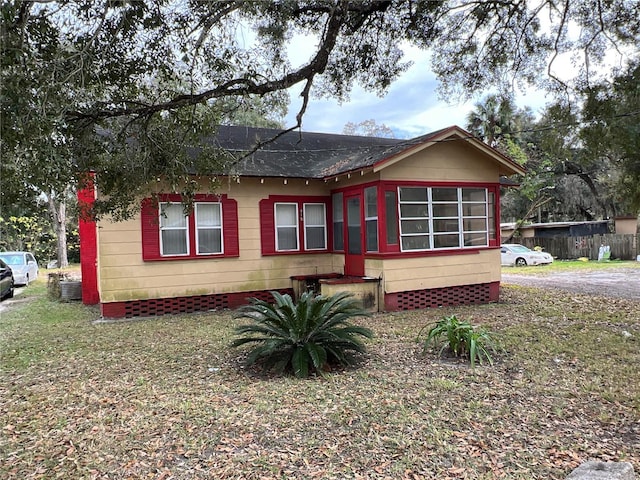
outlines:
[[[443,142],[381,170],[383,180],[497,183],[498,165],[464,141]]]

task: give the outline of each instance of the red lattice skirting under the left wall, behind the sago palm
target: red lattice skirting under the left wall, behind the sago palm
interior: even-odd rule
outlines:
[[[280,289],[278,292],[293,296],[293,289]],[[207,312],[246,305],[249,298],[271,301],[270,291],[220,293],[196,295],[192,297],[151,298],[149,300],[130,300],[127,302],[103,303],[100,305],[105,318],[155,317],[166,314]]]

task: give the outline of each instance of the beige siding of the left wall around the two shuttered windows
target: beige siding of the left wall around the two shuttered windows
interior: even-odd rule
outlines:
[[[340,255],[263,257],[261,253],[260,200],[269,194],[327,195],[324,182],[242,179],[224,184],[220,193],[238,202],[239,258],[144,262],[140,218],[104,221],[98,229],[102,301],[289,288],[292,275],[331,273],[336,266],[342,269]]]

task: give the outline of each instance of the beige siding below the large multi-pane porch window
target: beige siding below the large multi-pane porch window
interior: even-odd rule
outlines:
[[[500,250],[384,260],[386,293],[500,281]]]

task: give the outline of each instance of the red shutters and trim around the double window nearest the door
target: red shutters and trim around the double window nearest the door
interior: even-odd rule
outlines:
[[[296,203],[298,205],[298,250],[276,250],[275,204]],[[300,212],[305,203],[322,203],[325,206],[327,247],[323,249],[305,249],[304,222]],[[333,239],[333,221],[331,212],[331,196],[326,195],[269,195],[260,200],[260,244],[262,255],[313,255],[331,253]]]

